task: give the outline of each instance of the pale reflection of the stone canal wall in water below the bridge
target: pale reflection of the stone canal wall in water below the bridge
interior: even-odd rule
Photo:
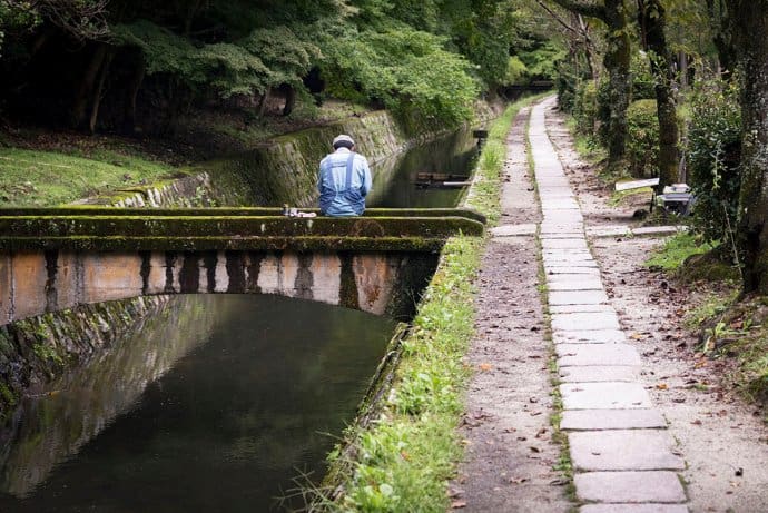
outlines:
[[[0,428],[0,492],[26,497],[60,462],[136,403],[146,386],[205,342],[215,323],[207,298],[174,296],[135,333],[24,398]],[[186,333],[185,326],[196,329]]]

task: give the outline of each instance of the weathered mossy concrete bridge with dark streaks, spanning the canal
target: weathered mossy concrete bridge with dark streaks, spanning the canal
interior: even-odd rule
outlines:
[[[286,217],[278,208],[0,209],[0,325],[80,304],[206,293],[398,316],[413,308],[445,239],[481,235],[483,223],[462,209],[354,218]]]

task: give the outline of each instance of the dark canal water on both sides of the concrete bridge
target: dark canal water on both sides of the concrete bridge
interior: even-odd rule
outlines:
[[[415,176],[469,175],[474,152],[460,132],[381,162],[368,205],[453,206],[461,190]],[[0,426],[0,512],[301,506],[279,497],[322,479],[394,328],[279,296],[174,296]]]

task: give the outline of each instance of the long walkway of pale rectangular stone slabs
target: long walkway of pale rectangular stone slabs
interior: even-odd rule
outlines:
[[[688,511],[685,463],[640,383],[641,358],[627,344],[602,285],[584,220],[547,135],[531,112],[529,139],[543,215],[540,243],[561,377],[563,415],[583,513]]]

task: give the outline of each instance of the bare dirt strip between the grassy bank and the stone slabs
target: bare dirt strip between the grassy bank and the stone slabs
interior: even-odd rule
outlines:
[[[565,512],[564,482],[553,470],[549,343],[539,293],[535,224],[541,220],[525,157],[522,111],[508,136],[503,217],[483,258],[477,336],[467,364],[475,376],[462,427],[466,463],[452,485],[454,505],[472,512]]]

